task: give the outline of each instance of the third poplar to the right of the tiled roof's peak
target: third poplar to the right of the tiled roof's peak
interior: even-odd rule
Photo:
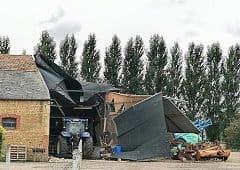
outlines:
[[[99,63],[100,52],[96,50],[96,36],[90,34],[84,43],[82,52],[81,76],[89,82],[99,81],[101,65]]]

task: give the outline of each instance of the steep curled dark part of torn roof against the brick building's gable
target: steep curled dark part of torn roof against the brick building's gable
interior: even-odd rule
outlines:
[[[35,56],[35,62],[48,86],[52,99],[56,99],[61,105],[77,105],[83,96],[81,84],[65,73],[55,63]]]

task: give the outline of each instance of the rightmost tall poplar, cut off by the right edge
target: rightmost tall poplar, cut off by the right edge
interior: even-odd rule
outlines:
[[[229,48],[228,57],[222,65],[223,83],[222,94],[224,97],[224,127],[227,127],[236,117],[240,108],[240,45]]]

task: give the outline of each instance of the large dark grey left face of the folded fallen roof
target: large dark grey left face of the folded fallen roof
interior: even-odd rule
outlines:
[[[114,119],[123,159],[169,158],[170,147],[161,94],[149,97]]]

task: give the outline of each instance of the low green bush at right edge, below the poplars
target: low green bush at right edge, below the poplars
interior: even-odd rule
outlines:
[[[236,114],[234,120],[229,123],[225,129],[227,146],[232,149],[240,149],[240,113]]]

